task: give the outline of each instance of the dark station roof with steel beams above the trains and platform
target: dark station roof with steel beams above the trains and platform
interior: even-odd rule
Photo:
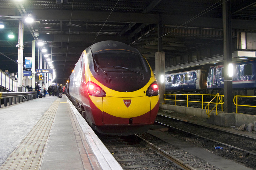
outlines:
[[[222,2],[225,0],[0,0],[0,69],[17,72],[18,25],[24,21],[24,60],[31,57],[32,40],[45,42],[57,73],[65,82],[81,53],[93,43],[116,40],[137,48],[155,68],[158,23],[162,25],[162,51],[171,67],[211,63],[223,55]],[[232,0],[232,37],[256,32],[255,0]],[[39,35],[34,35],[38,30]],[[15,38],[8,39],[13,32]],[[40,49],[41,50],[41,49]],[[198,56],[200,53],[200,57]],[[38,49],[36,47],[36,56]],[[202,56],[202,57],[201,57]],[[37,68],[36,57],[36,68]],[[191,64],[189,64],[191,63]],[[24,69],[25,70],[25,69]]]

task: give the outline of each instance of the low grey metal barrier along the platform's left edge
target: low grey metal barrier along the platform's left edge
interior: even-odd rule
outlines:
[[[0,92],[0,108],[2,107],[2,100],[4,100],[4,106],[20,103],[27,100],[37,98],[37,92]]]

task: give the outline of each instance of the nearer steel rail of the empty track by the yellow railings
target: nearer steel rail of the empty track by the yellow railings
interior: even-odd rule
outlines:
[[[201,138],[201,139],[203,139],[203,140],[205,140],[205,141],[207,141],[207,142],[211,142],[211,143],[213,143],[213,144],[219,145],[219,146],[221,146],[221,147],[223,147],[223,148],[228,149],[229,151],[235,151],[235,152],[238,152],[238,153],[243,154],[244,156],[248,156],[248,157],[251,157],[251,158],[256,159],[256,154],[253,153],[253,152],[246,151],[246,150],[244,150],[244,149],[240,149],[240,148],[237,148],[237,147],[234,147],[234,146],[232,146],[232,145],[225,144],[225,143],[222,143],[222,142],[219,142],[219,141],[215,141],[215,140],[213,140],[213,139],[205,138],[205,137],[203,137],[203,136],[200,136],[200,135],[197,135],[197,134],[188,132],[188,131],[184,131],[184,130],[179,129],[179,128],[176,128],[176,127],[172,127],[172,126],[163,124],[163,123],[158,122],[158,121],[155,121],[155,123],[160,124],[160,125],[165,126],[165,127],[169,127],[169,128],[178,130],[178,131],[182,131],[182,132],[187,133],[187,134],[191,134],[191,135],[195,136],[196,138]]]

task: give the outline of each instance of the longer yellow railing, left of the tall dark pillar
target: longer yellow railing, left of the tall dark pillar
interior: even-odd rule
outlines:
[[[166,99],[166,95],[174,95],[174,99]],[[187,96],[187,100],[176,100],[176,96]],[[219,95],[219,94],[218,94]],[[189,101],[189,96],[201,96],[202,101]],[[202,109],[204,109],[204,103],[209,103],[208,101],[204,101],[204,96],[212,96],[212,97],[216,97],[215,94],[164,94],[164,100],[171,100],[174,101],[174,105],[176,106],[176,101],[185,101],[187,102],[187,107],[188,107],[188,102],[194,102],[194,103],[202,103]],[[221,111],[223,110],[223,104],[224,104],[224,95],[219,95],[221,96],[220,101],[221,103],[216,102],[212,102],[212,104],[221,104]],[[217,108],[216,108],[217,110]],[[217,111],[216,111],[217,112]]]

